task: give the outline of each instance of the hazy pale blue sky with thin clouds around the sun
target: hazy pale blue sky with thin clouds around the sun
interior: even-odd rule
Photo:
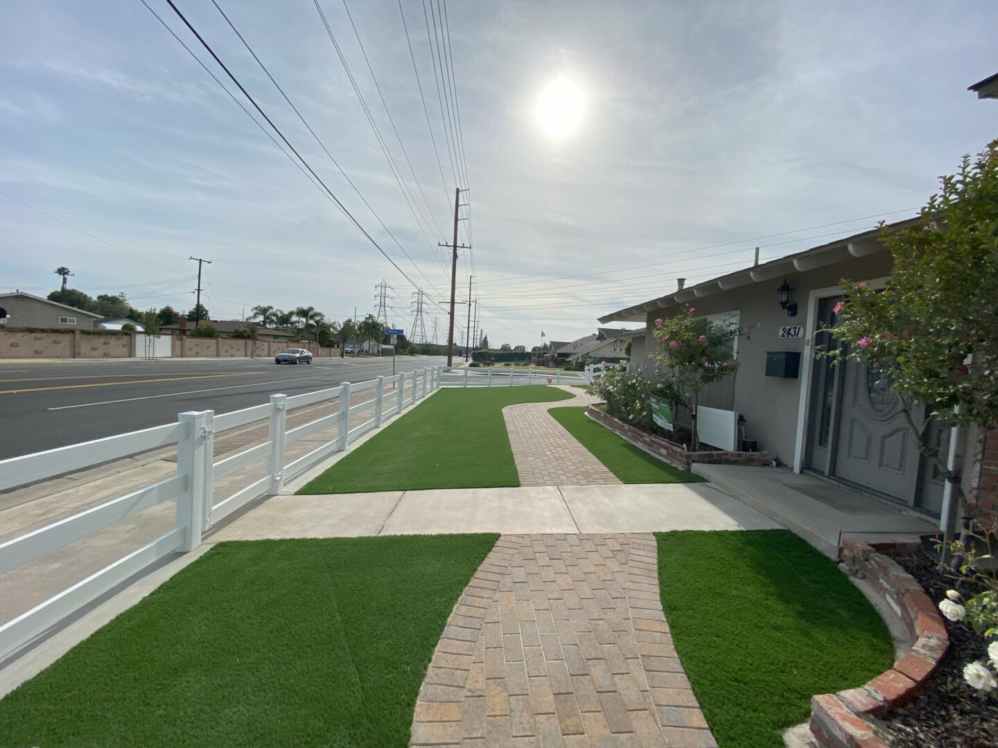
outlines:
[[[436,243],[451,238],[455,179],[424,21],[430,1],[401,7],[439,162],[397,0],[348,0],[417,186],[342,0],[320,0],[414,210],[312,0],[219,0],[392,239],[211,0],[175,0],[423,286],[445,342],[446,318],[431,300],[449,294],[449,250]],[[166,0],[148,2],[250,108]],[[446,12],[471,187],[461,242],[470,224],[474,244],[458,262],[458,298],[474,271],[494,345],[530,346],[542,329],[571,340],[600,315],[674,289],[678,276],[749,264],[755,245],[775,257],[880,215],[908,216],[938,175],[998,136],[998,102],[966,91],[998,72],[993,0],[451,0]],[[536,110],[558,79],[585,101],[578,127],[553,138]],[[68,265],[72,284],[92,295],[123,290],[139,308],[188,309],[194,254],[213,260],[203,301],[216,319],[260,303],[342,319],[354,306],[372,311],[384,278],[390,321],[412,325],[409,281],[140,0],[5,4],[0,190],[100,239],[0,195],[3,290],[45,295],[58,286],[55,267]]]

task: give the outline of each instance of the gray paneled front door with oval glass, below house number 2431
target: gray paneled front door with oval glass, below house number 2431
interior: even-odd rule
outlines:
[[[876,372],[854,361],[845,367],[834,475],[914,504],[919,452],[900,399]]]

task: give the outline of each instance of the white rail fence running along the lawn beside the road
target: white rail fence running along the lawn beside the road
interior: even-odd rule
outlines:
[[[174,502],[176,525],[151,543],[69,586],[16,618],[0,625],[0,658],[14,652],[65,616],[112,589],[147,566],[177,551],[193,551],[213,525],[251,501],[279,493],[284,482],[334,452],[345,450],[384,419],[402,413],[441,387],[496,387],[586,382],[583,373],[532,369],[427,367],[366,382],[343,382],[316,392],[269,401],[243,410],[181,413],[178,422],[0,461],[0,490],[64,475],[152,449],[175,446],[177,472],[149,486],[111,499],[44,528],[0,544],[0,573],[35,561],[153,507]],[[351,403],[360,395],[361,402]],[[288,430],[290,411],[335,403],[336,410]],[[267,436],[259,444],[216,460],[216,436],[265,421]],[[328,441],[287,462],[288,445],[313,434],[335,430]],[[265,474],[235,493],[216,499],[217,483],[265,461]],[[248,479],[250,480],[250,479]]]

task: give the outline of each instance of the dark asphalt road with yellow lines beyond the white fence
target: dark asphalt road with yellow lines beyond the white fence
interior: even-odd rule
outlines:
[[[401,356],[396,372],[446,363]],[[0,460],[177,421],[189,410],[229,413],[276,392],[300,395],[391,376],[390,358],[0,361]]]

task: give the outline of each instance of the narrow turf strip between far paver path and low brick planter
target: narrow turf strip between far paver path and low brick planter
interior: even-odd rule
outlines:
[[[635,447],[587,416],[585,408],[552,408],[548,412],[624,483],[700,483],[704,480]]]

